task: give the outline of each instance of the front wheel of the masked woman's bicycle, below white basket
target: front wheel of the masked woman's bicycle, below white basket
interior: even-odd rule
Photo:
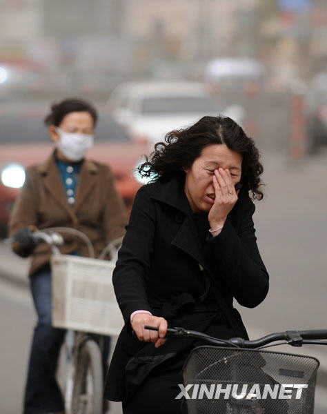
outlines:
[[[72,414],[101,414],[103,375],[99,346],[92,339],[83,344],[77,358],[72,391]]]

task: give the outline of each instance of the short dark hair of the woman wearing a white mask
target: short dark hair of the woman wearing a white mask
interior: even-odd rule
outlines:
[[[94,106],[87,101],[75,98],[64,99],[59,103],[53,103],[51,112],[44,119],[44,123],[46,126],[59,126],[63,118],[70,112],[88,112],[93,119],[94,125],[97,124],[98,115]]]

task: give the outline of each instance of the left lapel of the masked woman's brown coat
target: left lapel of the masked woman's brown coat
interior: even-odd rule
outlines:
[[[39,173],[43,179],[43,184],[48,192],[57,200],[61,207],[66,210],[72,221],[77,222],[72,208],[68,204],[65,188],[61,182],[59,170],[56,161],[54,160],[54,153],[43,163],[39,165]]]

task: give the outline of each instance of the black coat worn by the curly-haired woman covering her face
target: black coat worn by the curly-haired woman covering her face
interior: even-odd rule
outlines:
[[[199,264],[217,280],[230,308],[234,297],[249,308],[264,300],[268,273],[257,248],[254,211],[250,197],[241,191],[221,233],[217,237],[206,237],[208,220],[204,217],[204,224],[200,228],[196,225],[182,179],[175,177],[166,183],[140,188],[113,275],[126,325],[119,335],[108,371],[105,387],[108,400],[125,400],[153,366],[185,353],[190,346],[189,339],[168,339],[159,348],[139,342],[130,327],[132,312],[150,311],[165,317],[171,326],[212,334],[208,329],[221,311],[219,304],[212,300],[210,289],[208,293],[208,281]],[[205,237],[201,237],[201,232]],[[197,313],[206,306],[212,311],[210,317]],[[241,324],[236,311],[235,315]],[[225,328],[214,332],[216,335],[235,336],[230,327],[222,325]]]

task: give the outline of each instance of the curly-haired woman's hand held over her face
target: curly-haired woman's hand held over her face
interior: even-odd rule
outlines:
[[[212,182],[215,188],[215,203],[210,208],[208,220],[212,230],[216,230],[224,226],[230,210],[235,206],[239,190],[235,191],[228,169],[215,170]]]

